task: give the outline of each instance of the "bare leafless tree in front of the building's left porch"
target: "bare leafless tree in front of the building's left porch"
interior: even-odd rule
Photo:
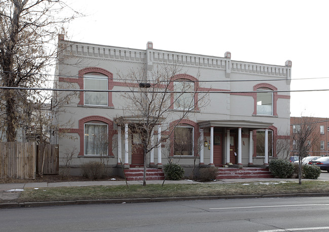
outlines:
[[[125,116],[118,118],[117,123],[133,123],[134,128],[130,131],[140,135],[143,185],[146,185],[147,157],[150,151],[173,136],[175,128],[183,119],[208,103],[208,95],[198,93],[199,82],[184,79],[181,68],[178,65],[163,64],[152,71],[131,70],[126,75],[118,73],[130,92],[123,95],[127,104],[123,106]],[[153,141],[153,134],[158,137],[160,133],[158,125],[162,128],[161,139]]]

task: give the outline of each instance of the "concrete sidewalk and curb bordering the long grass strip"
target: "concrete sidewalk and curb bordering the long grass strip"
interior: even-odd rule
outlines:
[[[307,179],[303,179],[307,180]],[[328,181],[327,179],[319,178],[320,181]],[[279,179],[279,178],[251,178],[251,179],[221,179],[212,182],[196,182],[192,180],[166,180],[165,184],[222,184],[222,183],[238,183],[238,182],[274,182],[274,181],[298,181],[298,179]],[[128,185],[132,184],[142,184],[143,181],[127,181]],[[163,180],[147,180],[147,184],[162,184]],[[82,186],[96,186],[96,185],[126,185],[125,181],[72,181],[72,182],[32,182],[32,183],[2,183],[0,184],[0,208],[8,207],[28,207],[28,206],[46,206],[46,205],[71,205],[71,204],[101,204],[101,203],[120,203],[120,202],[152,202],[155,199],[109,199],[109,200],[86,200],[86,201],[67,201],[67,202],[35,202],[35,203],[17,203],[17,199],[20,196],[20,193],[25,189],[34,189],[34,188],[52,188],[52,187],[82,187]],[[290,194],[291,196],[297,196],[297,194]],[[290,196],[289,195],[289,196]],[[314,194],[313,194],[314,195]],[[269,196],[250,196],[250,197],[271,197]],[[281,195],[280,195],[281,196]],[[285,195],[284,195],[285,196]],[[290,196],[290,197],[291,197]],[[317,195],[318,196],[318,195]],[[329,196],[329,193],[321,194],[321,196]],[[228,198],[230,196],[222,196],[223,198]],[[248,196],[232,196],[232,198]],[[272,197],[279,197],[273,195]],[[282,195],[283,197],[283,195]],[[197,200],[197,199],[218,199],[221,196],[217,197],[193,197],[193,198],[166,198],[166,199],[156,199],[156,201],[173,201],[173,200]]]

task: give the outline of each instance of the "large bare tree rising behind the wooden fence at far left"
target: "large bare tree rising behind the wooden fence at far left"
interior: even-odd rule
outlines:
[[[28,123],[27,109],[50,102],[51,93],[22,88],[51,87],[47,73],[57,56],[58,32],[77,16],[61,14],[66,7],[59,0],[0,1],[0,121],[9,142]]]

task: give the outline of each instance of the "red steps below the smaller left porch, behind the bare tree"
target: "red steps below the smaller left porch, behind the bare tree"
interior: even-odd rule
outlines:
[[[129,168],[124,169],[126,179],[131,180],[143,180],[143,168]],[[164,172],[158,168],[147,168],[146,169],[146,180],[163,180]]]

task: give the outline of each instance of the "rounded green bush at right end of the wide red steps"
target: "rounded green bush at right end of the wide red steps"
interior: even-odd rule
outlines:
[[[275,178],[288,178],[294,169],[294,164],[286,160],[273,159],[269,163],[269,170]]]

